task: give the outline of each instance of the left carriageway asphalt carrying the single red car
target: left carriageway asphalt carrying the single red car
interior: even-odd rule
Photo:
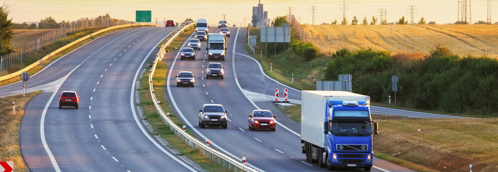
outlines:
[[[146,57],[155,56],[155,46],[174,29],[113,32],[32,76],[28,83],[45,91],[27,104],[21,121],[19,142],[29,171],[193,170],[148,134],[132,97],[139,71],[153,59]],[[58,108],[57,95],[65,90],[81,96],[79,109]]]

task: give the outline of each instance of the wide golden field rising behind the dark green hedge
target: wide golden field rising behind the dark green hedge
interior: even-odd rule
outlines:
[[[441,44],[456,54],[498,55],[498,24],[301,25],[321,52],[375,47],[392,52],[428,52]],[[425,47],[425,48],[424,48]]]

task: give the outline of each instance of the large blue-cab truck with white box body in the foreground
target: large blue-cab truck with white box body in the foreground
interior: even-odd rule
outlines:
[[[320,167],[373,166],[370,97],[346,91],[302,91],[301,144],[306,160]]]

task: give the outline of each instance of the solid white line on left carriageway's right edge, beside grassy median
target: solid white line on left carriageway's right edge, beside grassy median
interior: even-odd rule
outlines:
[[[176,29],[176,30],[178,30],[178,29]],[[141,72],[143,64],[145,63],[145,61],[147,61],[147,59],[149,58],[152,51],[156,50],[157,49],[156,47],[162,42],[162,40],[166,39],[169,35],[171,35],[173,33],[173,31],[171,31],[168,35],[164,36],[164,38],[162,38],[159,42],[157,42],[157,44],[155,46],[152,47],[152,49],[150,49],[149,53],[143,58],[142,63],[140,63],[140,66],[138,66],[138,69],[136,69],[135,76],[133,77],[133,82],[131,83],[129,105],[131,108],[131,113],[133,114],[133,118],[135,119],[136,124],[138,125],[138,127],[140,128],[142,133],[145,135],[145,137],[147,137],[147,139],[149,139],[150,142],[152,142],[152,144],[154,144],[157,148],[159,148],[159,150],[161,150],[164,154],[168,155],[171,159],[178,162],[179,164],[181,164],[183,167],[187,168],[188,170],[190,170],[192,172],[196,172],[196,170],[194,168],[188,166],[187,164],[182,162],[180,159],[178,159],[177,157],[175,157],[174,155],[172,155],[171,153],[166,151],[160,144],[158,144],[154,139],[152,139],[152,137],[150,137],[150,135],[148,134],[148,131],[145,131],[145,129],[141,125],[140,121],[138,120],[138,117],[137,117],[136,112],[135,112],[135,104],[133,103],[133,101],[135,100],[134,96],[135,96],[136,81],[137,81],[138,75]]]

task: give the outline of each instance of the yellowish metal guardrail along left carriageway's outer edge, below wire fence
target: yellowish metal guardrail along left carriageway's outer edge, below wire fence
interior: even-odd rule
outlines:
[[[91,33],[91,34],[89,34],[89,35],[86,35],[86,36],[84,36],[84,37],[82,37],[82,38],[79,38],[78,40],[75,40],[75,41],[73,41],[73,42],[71,42],[71,43],[69,43],[69,44],[67,44],[67,45],[65,45],[65,46],[63,46],[63,47],[60,47],[59,49],[57,49],[57,50],[55,50],[55,51],[51,52],[50,54],[47,54],[45,57],[43,57],[43,58],[41,58],[40,60],[38,60],[38,61],[34,62],[33,64],[30,64],[29,66],[25,67],[24,69],[21,69],[21,70],[19,70],[19,71],[17,71],[17,72],[14,72],[14,73],[11,73],[11,74],[8,74],[8,75],[1,76],[1,77],[0,77],[0,81],[3,81],[3,80],[10,79],[10,78],[13,78],[13,77],[15,77],[15,76],[18,76],[18,75],[20,75],[22,72],[28,71],[29,69],[32,69],[33,67],[35,67],[35,66],[37,66],[37,65],[39,65],[39,64],[42,64],[42,63],[43,63],[43,61],[45,61],[45,60],[47,60],[48,58],[50,58],[50,57],[52,57],[52,56],[56,55],[57,53],[59,53],[59,52],[61,52],[61,51],[65,50],[65,49],[67,49],[67,48],[69,48],[69,47],[71,47],[71,46],[73,46],[73,45],[76,45],[76,44],[78,44],[78,43],[80,43],[80,42],[82,42],[82,41],[84,41],[84,40],[86,40],[86,39],[88,39],[88,38],[91,38],[91,37],[92,37],[92,36],[94,36],[94,35],[98,35],[98,34],[100,34],[100,33],[103,33],[103,32],[106,32],[106,31],[110,31],[110,30],[114,30],[114,29],[118,29],[118,28],[133,27],[133,26],[156,26],[156,27],[161,27],[160,25],[156,25],[156,24],[149,24],[149,23],[133,23],[133,24],[123,24],[123,25],[117,25],[117,26],[112,26],[112,27],[108,27],[108,28],[101,29],[101,30],[99,30],[99,31],[96,31],[96,32],[94,32],[94,33]]]

